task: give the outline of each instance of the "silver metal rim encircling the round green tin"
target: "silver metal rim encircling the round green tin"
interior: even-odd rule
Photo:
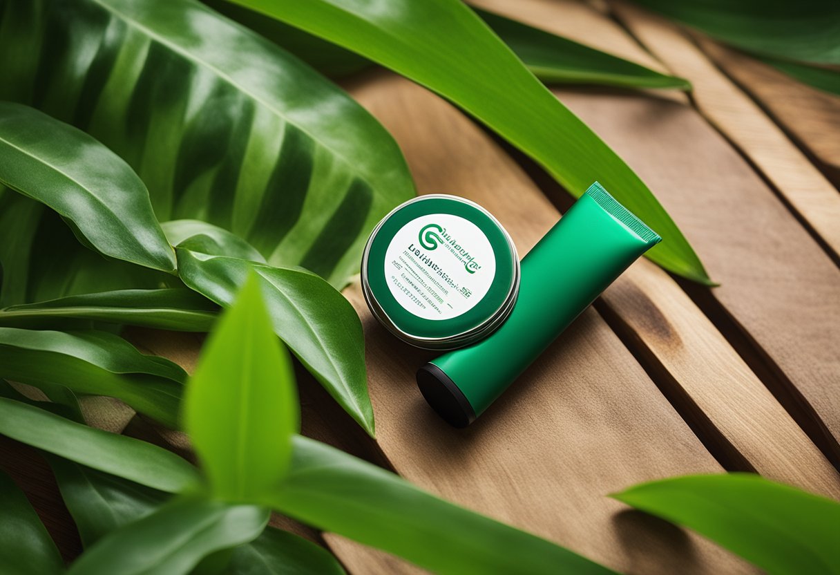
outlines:
[[[373,240],[376,237],[376,235],[379,234],[379,230],[381,229],[382,224],[385,224],[387,219],[391,218],[392,215],[396,214],[396,212],[406,207],[408,204],[415,202],[423,202],[424,200],[431,198],[446,198],[454,200],[456,202],[467,203],[470,206],[480,210],[482,213],[486,214],[486,216],[489,219],[491,219],[491,221],[494,224],[496,224],[496,226],[498,226],[499,229],[501,229],[502,234],[505,236],[505,240],[507,240],[507,246],[510,249],[510,254],[513,258],[513,281],[511,282],[511,287],[507,292],[507,298],[505,298],[505,301],[501,303],[498,309],[496,309],[496,312],[494,312],[486,320],[484,320],[478,325],[475,325],[469,330],[459,332],[458,334],[449,335],[448,337],[418,337],[398,328],[396,324],[394,324],[393,320],[391,320],[391,318],[388,316],[386,311],[382,309],[379,301],[376,299],[376,296],[370,289],[370,284],[368,283],[367,263],[368,255],[370,252],[370,245],[373,243]],[[502,226],[501,223],[499,223],[499,220],[496,219],[496,217],[493,214],[488,212],[479,204],[466,198],[460,198],[459,196],[453,196],[446,193],[429,193],[423,196],[417,196],[417,198],[412,198],[407,202],[401,203],[396,208],[393,208],[390,212],[388,212],[388,214],[384,218],[382,218],[379,221],[378,224],[375,225],[373,231],[370,232],[370,237],[368,237],[368,240],[365,243],[365,251],[362,252],[362,294],[365,296],[365,302],[368,305],[368,309],[370,309],[370,313],[373,314],[373,316],[383,326],[385,326],[386,330],[390,331],[391,334],[396,335],[396,337],[400,340],[403,340],[407,344],[410,344],[412,346],[427,350],[451,350],[458,347],[465,347],[469,346],[471,343],[475,343],[476,341],[483,340],[488,335],[491,335],[492,332],[496,331],[501,326],[501,324],[503,324],[505,320],[507,320],[507,317],[511,314],[513,310],[513,306],[517,302],[517,298],[519,296],[519,277],[520,262],[519,254],[517,252],[517,246],[513,244],[513,240],[511,238],[511,235],[507,233],[507,229],[505,229],[504,226]]]

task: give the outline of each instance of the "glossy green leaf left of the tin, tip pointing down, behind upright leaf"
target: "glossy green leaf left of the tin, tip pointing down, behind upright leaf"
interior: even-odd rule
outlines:
[[[353,306],[320,277],[302,269],[176,250],[181,279],[221,305],[230,305],[253,271],[260,279],[274,332],[328,393],[370,434],[365,337]]]

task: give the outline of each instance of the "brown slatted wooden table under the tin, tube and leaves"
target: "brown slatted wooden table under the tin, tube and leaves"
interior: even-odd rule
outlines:
[[[478,4],[693,83],[690,98],[554,92],[648,182],[722,285],[690,285],[639,261],[474,425],[454,430],[414,383],[433,354],[388,335],[354,283],[344,293],[365,327],[377,441],[298,370],[303,430],[621,572],[753,572],[606,494],[729,470],[840,499],[840,99],[624,3]],[[569,205],[542,171],[423,88],[381,70],[345,87],[396,137],[420,193],[484,205],[520,253]],[[187,369],[201,345],[194,335],[130,335]],[[109,405],[100,425],[151,436],[129,409]],[[79,542],[43,462],[9,440],[0,448],[62,552],[75,556]],[[275,520],[327,545],[349,572],[417,571]]]

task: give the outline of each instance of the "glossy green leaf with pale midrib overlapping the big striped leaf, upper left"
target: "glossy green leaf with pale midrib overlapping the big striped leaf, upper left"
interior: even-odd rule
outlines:
[[[119,156],[70,125],[0,102],[0,183],[54,209],[106,256],[175,270],[143,182]]]

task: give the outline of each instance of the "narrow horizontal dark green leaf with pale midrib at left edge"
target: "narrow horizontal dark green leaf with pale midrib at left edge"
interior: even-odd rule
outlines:
[[[209,331],[218,306],[191,289],[123,289],[86,293],[0,309],[0,326],[74,328],[82,321],[139,325],[158,330]]]

